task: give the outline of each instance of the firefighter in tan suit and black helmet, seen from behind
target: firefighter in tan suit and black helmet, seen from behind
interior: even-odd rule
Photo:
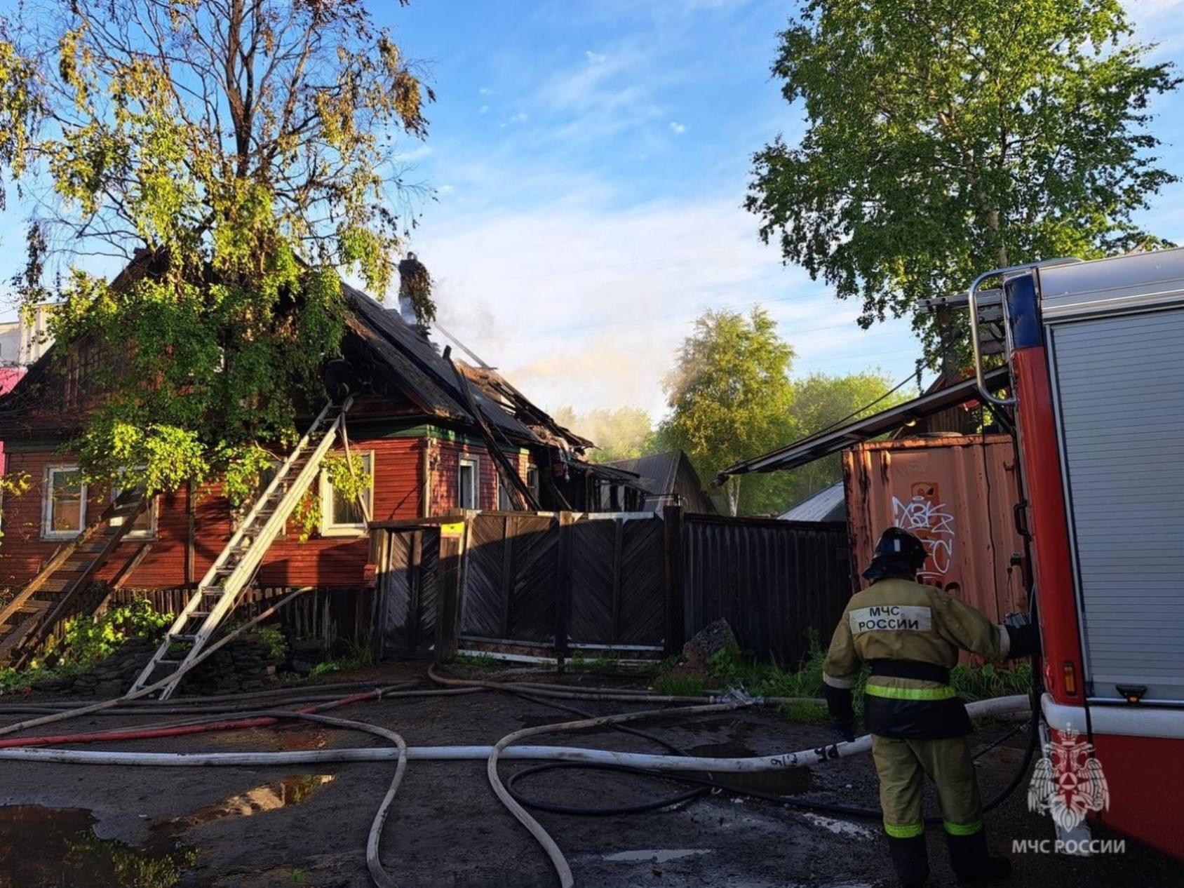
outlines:
[[[863,577],[870,586],[851,597],[826,652],[825,697],[843,740],[855,739],[851,687],[870,667],[864,719],[880,777],[884,832],[896,875],[906,888],[925,884],[929,864],[921,810],[924,777],[937,784],[950,862],[963,884],[1003,879],[1011,863],[992,857],[966,735],[966,707],[950,687],[958,651],[989,661],[1036,652],[1036,626],[1027,614],[1003,625],[934,586],[916,581],[926,551],[913,534],[892,527],[876,545]]]

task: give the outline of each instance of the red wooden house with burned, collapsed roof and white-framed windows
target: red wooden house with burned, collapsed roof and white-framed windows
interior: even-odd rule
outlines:
[[[501,377],[453,365],[397,309],[348,285],[345,295],[342,350],[359,388],[345,431],[373,480],[367,495],[373,521],[509,507],[494,448],[543,509],[594,508],[601,485],[636,481],[585,462],[591,442],[556,425]],[[0,398],[8,472],[31,481],[26,494],[4,503],[0,588],[28,583],[109,506],[88,490],[66,449],[85,419],[88,394],[86,349],[58,343]],[[288,532],[271,542],[258,584],[363,583],[367,521],[360,503],[336,496],[323,478],[315,489],[321,526],[307,541]],[[134,588],[192,585],[226,546],[236,520],[218,483],[161,494],[116,541],[94,579]]]

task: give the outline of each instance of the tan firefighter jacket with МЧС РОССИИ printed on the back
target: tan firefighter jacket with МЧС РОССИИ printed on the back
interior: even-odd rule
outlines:
[[[957,598],[934,586],[888,578],[848,601],[826,652],[823,681],[850,688],[863,663],[871,661],[950,669],[960,650],[1005,659],[1009,646],[1006,629]],[[970,732],[966,708],[947,681],[882,675],[875,667],[866,688],[864,716],[871,733],[882,736],[941,738]]]

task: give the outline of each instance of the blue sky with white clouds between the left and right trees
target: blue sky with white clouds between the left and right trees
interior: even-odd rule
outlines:
[[[408,142],[420,201],[410,249],[443,327],[541,405],[659,414],[662,375],[708,307],[777,317],[796,374],[912,372],[906,321],[871,330],[780,264],[740,208],[751,154],[802,131],[768,65],[786,0],[414,0],[374,4],[438,95]],[[1184,0],[1128,4],[1158,56],[1184,49]],[[1154,131],[1184,174],[1184,95]],[[1184,187],[1144,220],[1184,242]],[[12,212],[7,220],[11,221]],[[0,220],[0,276],[19,233]]]

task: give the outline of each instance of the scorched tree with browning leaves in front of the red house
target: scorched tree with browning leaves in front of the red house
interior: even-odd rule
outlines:
[[[75,442],[92,480],[250,487],[324,398],[339,274],[392,282],[395,143],[425,135],[430,98],[362,0],[45,0],[0,18],[0,173],[34,207],[17,284],[25,305],[60,301],[59,343],[97,346],[103,398]],[[96,255],[131,260],[117,285],[88,274]]]

